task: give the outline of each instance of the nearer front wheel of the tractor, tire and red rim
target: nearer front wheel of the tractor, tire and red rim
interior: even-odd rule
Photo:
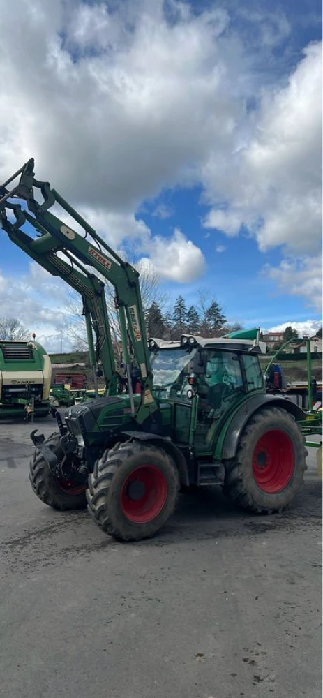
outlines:
[[[151,443],[127,441],[107,449],[96,461],[89,475],[87,504],[105,533],[124,542],[138,541],[152,537],[165,524],[178,492],[173,459]]]

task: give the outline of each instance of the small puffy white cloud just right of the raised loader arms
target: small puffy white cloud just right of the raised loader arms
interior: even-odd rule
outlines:
[[[160,279],[188,283],[206,268],[202,251],[181,230],[174,230],[170,238],[154,237],[147,248],[150,258],[142,258],[141,263],[153,265]]]

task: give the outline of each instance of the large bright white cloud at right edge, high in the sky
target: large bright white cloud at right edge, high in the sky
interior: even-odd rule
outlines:
[[[287,84],[262,92],[259,112],[231,156],[204,168],[214,208],[204,225],[236,235],[248,226],[262,251],[316,253],[322,230],[322,45],[307,47]],[[253,126],[253,130],[251,128]]]

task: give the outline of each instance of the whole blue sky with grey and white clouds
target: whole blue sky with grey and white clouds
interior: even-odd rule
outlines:
[[[245,326],[320,320],[320,3],[0,10],[1,181],[34,157],[36,177],[135,247],[170,299],[206,287]],[[53,350],[67,302],[0,231],[0,315]]]

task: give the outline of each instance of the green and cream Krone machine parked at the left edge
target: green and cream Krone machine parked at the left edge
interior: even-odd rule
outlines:
[[[50,414],[52,365],[35,341],[0,341],[0,419]]]

